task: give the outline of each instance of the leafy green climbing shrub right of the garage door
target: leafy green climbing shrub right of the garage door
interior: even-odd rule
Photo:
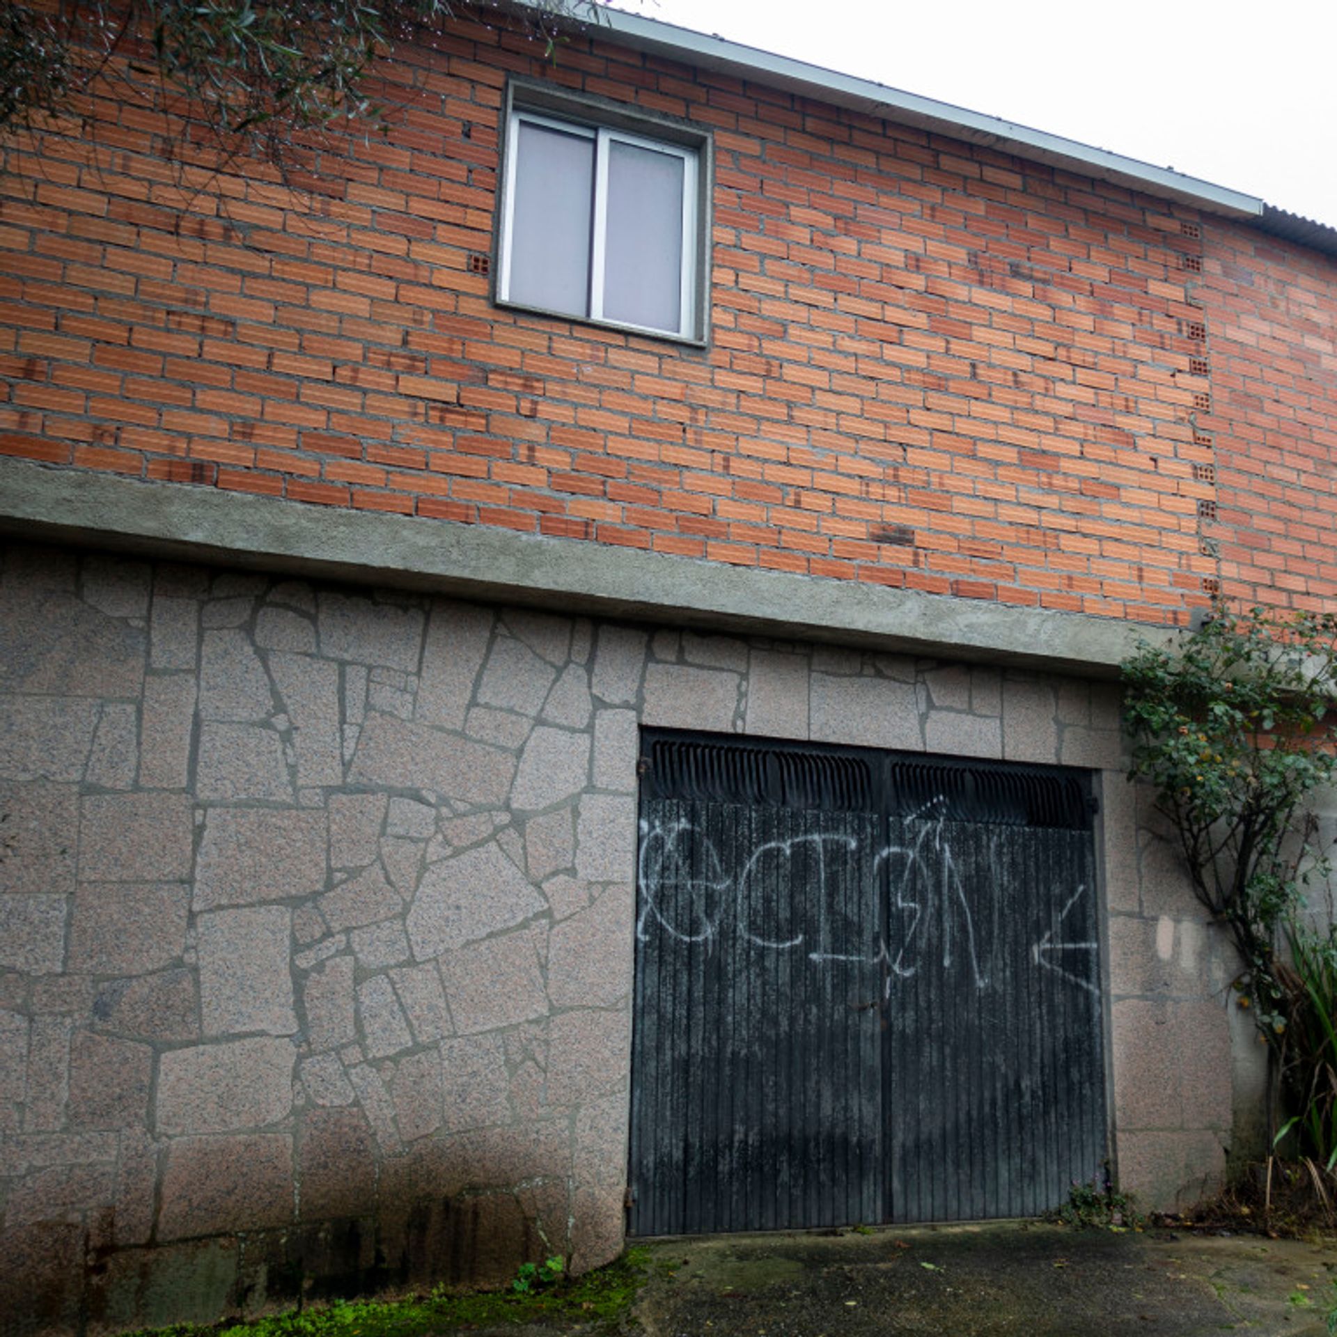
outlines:
[[[1198,898],[1239,951],[1241,1001],[1292,1092],[1308,1090],[1316,1064],[1337,1072],[1337,1036],[1313,1024],[1296,971],[1306,948],[1333,941],[1297,916],[1305,884],[1329,872],[1312,801],[1337,771],[1337,615],[1217,603],[1174,644],[1143,644],[1123,681],[1130,778],[1151,783]],[[1297,1044],[1313,1036],[1313,1052],[1297,1052],[1292,1032]]]

